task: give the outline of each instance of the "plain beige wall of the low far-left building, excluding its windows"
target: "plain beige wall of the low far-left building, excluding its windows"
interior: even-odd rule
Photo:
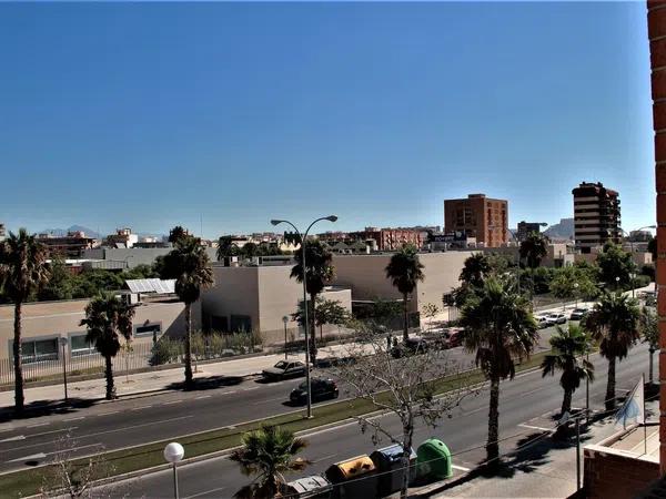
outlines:
[[[88,299],[40,302],[23,305],[22,338],[71,338],[84,334],[79,326],[84,317]],[[178,301],[151,302],[135,308],[134,329],[144,325],[160,324],[161,334],[182,336],[185,330],[184,305]],[[201,328],[201,306],[192,305],[192,328]],[[134,343],[152,343],[152,335],[134,337]],[[12,356],[13,305],[0,306],[0,358]],[[71,345],[71,344],[70,344]]]

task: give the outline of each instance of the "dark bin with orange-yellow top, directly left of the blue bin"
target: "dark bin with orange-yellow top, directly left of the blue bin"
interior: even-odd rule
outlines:
[[[367,455],[331,465],[325,475],[336,499],[371,498],[377,492],[376,468]]]

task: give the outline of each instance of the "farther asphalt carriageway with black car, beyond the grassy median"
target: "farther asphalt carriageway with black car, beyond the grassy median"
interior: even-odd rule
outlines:
[[[542,330],[537,350],[547,348],[553,332],[554,328]],[[473,355],[458,347],[447,350],[447,359],[471,366]],[[321,373],[326,375],[326,370]],[[2,424],[0,472],[46,464],[64,446],[70,448],[71,442],[72,457],[87,456],[297,410],[286,401],[291,389],[302,380],[264,384],[228,379],[224,384],[229,386],[117,400]],[[71,438],[65,442],[68,434]]]

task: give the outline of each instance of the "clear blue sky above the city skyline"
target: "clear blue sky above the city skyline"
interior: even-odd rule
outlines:
[[[10,228],[655,218],[644,2],[1,3],[0,63]]]

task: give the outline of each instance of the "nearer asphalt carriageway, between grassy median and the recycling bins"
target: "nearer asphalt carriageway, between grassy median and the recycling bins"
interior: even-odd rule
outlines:
[[[607,363],[598,355],[591,356],[596,367],[597,383],[591,385],[591,407],[603,410],[606,389]],[[632,349],[628,358],[618,364],[618,393],[630,389],[640,374],[647,369],[647,348],[638,345]],[[516,379],[502,384],[500,421],[501,438],[508,438],[501,444],[501,451],[515,448],[516,442],[528,436],[543,435],[556,425],[553,419],[562,404],[562,388],[556,378],[542,378],[539,371],[518,375]],[[454,455],[454,468],[458,470],[475,467],[484,457],[483,445],[487,435],[487,390],[466,399],[456,408],[452,418],[444,418],[435,429],[420,425],[414,442],[435,436],[441,438]],[[585,388],[574,396],[574,407],[585,407]],[[653,416],[654,417],[654,416]],[[393,417],[384,417],[384,425],[400,434],[400,426]],[[305,472],[291,475],[287,479],[323,472],[331,464],[370,454],[373,444],[370,435],[363,435],[356,424],[327,429],[307,437],[309,447],[303,457],[312,461]],[[387,445],[386,441],[380,446]],[[572,450],[573,452],[573,450]],[[186,449],[185,449],[186,456]],[[573,458],[574,455],[572,455]],[[542,457],[547,460],[547,456]],[[236,464],[226,458],[214,458],[192,465],[183,465],[179,469],[180,497],[189,498],[226,498],[250,480],[241,475]],[[113,497],[173,497],[171,470],[144,475],[141,478],[114,483]]]

